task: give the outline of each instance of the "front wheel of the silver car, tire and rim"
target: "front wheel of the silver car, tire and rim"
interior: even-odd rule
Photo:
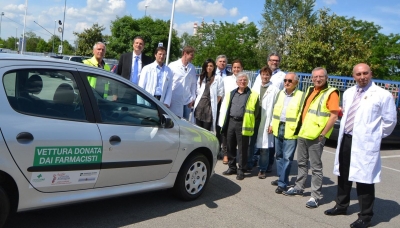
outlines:
[[[202,154],[193,154],[186,159],[175,180],[174,195],[190,201],[198,198],[210,178],[210,163]]]

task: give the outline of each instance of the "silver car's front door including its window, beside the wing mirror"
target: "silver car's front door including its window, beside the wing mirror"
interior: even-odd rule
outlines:
[[[99,111],[103,141],[103,163],[95,187],[166,177],[177,156],[179,127],[161,127],[162,110],[140,90],[116,79],[83,74],[92,82],[92,104]]]

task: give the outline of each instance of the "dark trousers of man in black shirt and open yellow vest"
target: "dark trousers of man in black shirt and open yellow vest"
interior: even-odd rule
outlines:
[[[229,168],[236,170],[237,162],[239,170],[244,171],[247,169],[247,149],[249,148],[250,137],[242,135],[242,125],[243,121],[236,121],[230,118],[226,138],[228,141]]]

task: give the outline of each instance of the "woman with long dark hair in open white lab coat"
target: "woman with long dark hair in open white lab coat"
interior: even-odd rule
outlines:
[[[196,125],[215,132],[217,120],[217,104],[224,96],[224,85],[221,76],[215,75],[214,60],[207,59],[197,80],[197,97],[194,103],[193,122]]]

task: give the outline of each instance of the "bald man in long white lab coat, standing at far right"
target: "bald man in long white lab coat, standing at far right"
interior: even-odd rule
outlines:
[[[354,66],[353,78],[357,85],[343,94],[343,117],[333,170],[338,176],[336,205],[325,214],[347,213],[355,181],[361,211],[350,227],[363,228],[371,225],[374,184],[381,181],[381,140],[392,133],[397,116],[393,96],[371,81],[372,71],[367,64]]]

